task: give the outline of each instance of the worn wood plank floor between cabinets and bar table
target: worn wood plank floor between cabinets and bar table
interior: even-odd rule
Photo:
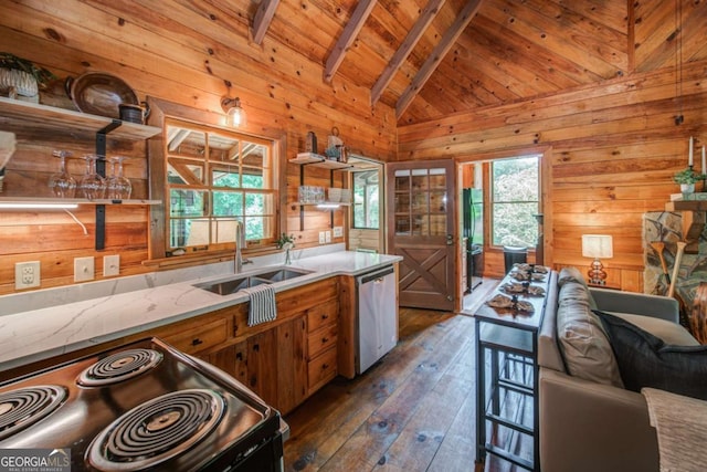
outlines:
[[[474,318],[401,308],[400,342],[381,363],[285,418],[285,469],[473,471],[475,398]],[[490,459],[486,470],[515,471]]]

